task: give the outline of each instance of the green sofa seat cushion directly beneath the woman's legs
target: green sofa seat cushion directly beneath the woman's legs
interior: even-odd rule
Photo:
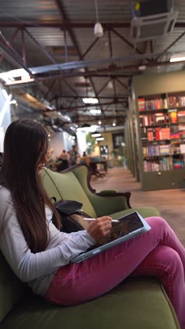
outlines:
[[[131,278],[111,292],[76,307],[58,307],[31,295],[1,329],[179,329],[162,285],[155,278]]]

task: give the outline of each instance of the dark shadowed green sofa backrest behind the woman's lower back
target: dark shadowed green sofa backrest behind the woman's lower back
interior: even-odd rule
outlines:
[[[10,266],[0,252],[0,321],[8,314],[14,304],[18,302],[24,294],[27,286],[15,276]]]

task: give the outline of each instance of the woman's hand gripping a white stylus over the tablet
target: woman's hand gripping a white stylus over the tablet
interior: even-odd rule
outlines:
[[[87,231],[97,243],[101,238],[110,233],[111,227],[111,217],[103,216],[97,218],[95,221],[91,221]]]

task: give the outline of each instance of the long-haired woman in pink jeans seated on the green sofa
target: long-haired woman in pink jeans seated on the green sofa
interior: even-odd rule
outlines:
[[[71,305],[104,294],[130,275],[158,276],[184,329],[185,252],[170,226],[149,217],[147,233],[70,264],[72,257],[109,234],[111,218],[92,221],[88,231],[59,231],[60,219],[41,183],[47,150],[48,135],[40,124],[16,120],[8,127],[1,169],[0,247],[18,278],[48,301]]]

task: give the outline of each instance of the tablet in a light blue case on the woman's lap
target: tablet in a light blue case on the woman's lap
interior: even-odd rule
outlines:
[[[124,243],[150,229],[151,227],[149,224],[146,223],[138,212],[131,212],[130,214],[118,218],[118,223],[112,223],[111,233],[109,233],[108,236],[102,238],[98,245],[72,258],[71,263],[83,262],[85,259],[95,256],[95,254],[103,252],[120,243]]]

